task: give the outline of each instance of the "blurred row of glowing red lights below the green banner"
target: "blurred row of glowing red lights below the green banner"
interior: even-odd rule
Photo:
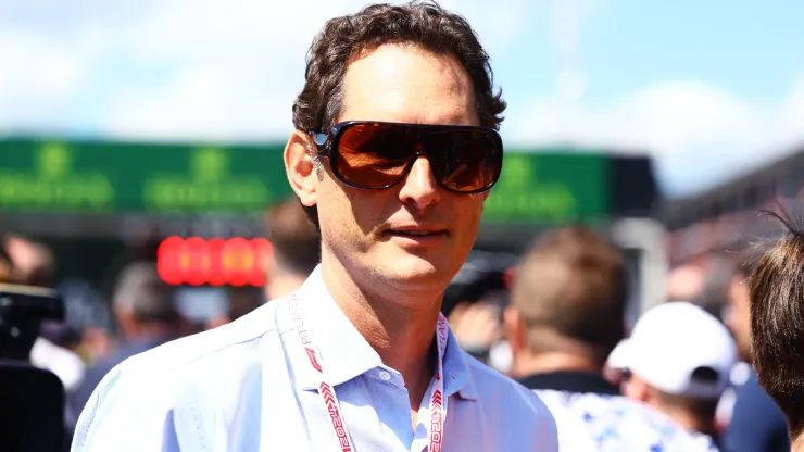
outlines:
[[[255,286],[265,284],[261,259],[272,252],[263,238],[203,239],[168,237],[156,252],[156,269],[167,284],[179,286]]]

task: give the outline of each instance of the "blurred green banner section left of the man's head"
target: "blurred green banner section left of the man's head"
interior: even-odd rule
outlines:
[[[279,147],[0,141],[0,209],[243,212],[290,194]]]

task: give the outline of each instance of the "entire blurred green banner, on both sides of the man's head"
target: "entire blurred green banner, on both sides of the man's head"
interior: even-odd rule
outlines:
[[[291,194],[281,146],[0,140],[0,210],[253,212]],[[485,218],[566,222],[605,215],[603,155],[506,153]]]

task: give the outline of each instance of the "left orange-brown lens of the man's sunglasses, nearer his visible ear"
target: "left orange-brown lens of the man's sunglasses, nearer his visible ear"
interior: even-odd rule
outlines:
[[[395,184],[417,148],[410,127],[356,124],[341,133],[335,153],[343,181],[368,188]]]

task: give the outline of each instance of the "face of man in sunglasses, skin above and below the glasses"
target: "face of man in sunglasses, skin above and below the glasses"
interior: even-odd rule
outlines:
[[[353,61],[343,95],[337,122],[479,125],[472,80],[460,62],[413,46],[381,46]],[[325,167],[314,193],[323,253],[335,256],[353,277],[440,293],[475,242],[486,194],[441,188],[425,158],[387,189],[348,187]],[[391,231],[412,227],[443,233],[406,237]]]

